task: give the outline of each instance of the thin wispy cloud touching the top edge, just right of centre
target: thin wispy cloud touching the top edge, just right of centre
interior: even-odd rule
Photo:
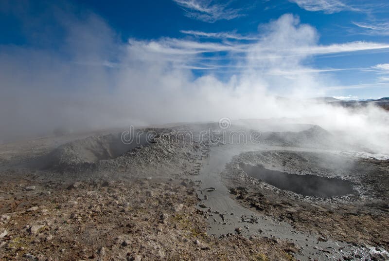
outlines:
[[[242,9],[229,7],[229,3],[216,3],[214,0],[173,0],[182,9],[185,15],[192,19],[198,19],[205,22],[215,22],[217,20],[231,20],[244,16],[240,12]]]

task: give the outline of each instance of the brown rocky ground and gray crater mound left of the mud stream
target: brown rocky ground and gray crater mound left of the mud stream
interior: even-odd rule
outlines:
[[[3,145],[0,260],[291,260],[290,242],[207,235],[188,177],[208,146],[176,138],[88,162],[67,138]]]

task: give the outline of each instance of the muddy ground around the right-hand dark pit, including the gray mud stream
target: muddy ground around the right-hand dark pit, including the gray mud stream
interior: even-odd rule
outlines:
[[[385,176],[388,173],[388,161],[343,158],[338,153],[328,154],[312,149],[303,151],[302,148],[255,149],[257,151],[243,152],[235,157],[232,155],[239,154],[244,149],[237,149],[236,146],[214,149],[215,154],[223,154],[220,150],[234,152],[230,153],[230,158],[218,159],[220,162],[224,160],[223,163],[226,164],[232,160],[227,164],[226,170],[223,171],[222,167],[219,167],[213,168],[214,172],[208,169],[204,172],[204,175],[213,173],[214,176],[219,172],[223,176],[222,182],[218,182],[221,191],[217,196],[216,191],[202,191],[203,194],[207,193],[203,205],[213,210],[209,218],[213,220],[210,233],[225,234],[239,231],[247,235],[260,234],[289,239],[301,247],[300,254],[295,255],[301,260],[388,258],[388,234],[385,232],[388,231],[388,205],[385,202],[387,191],[384,192],[385,188],[382,186],[383,182],[388,182]],[[212,158],[210,160],[212,161]],[[330,165],[332,169],[328,167],[328,162],[332,163]],[[210,164],[212,165],[212,162]],[[253,165],[259,166],[256,170],[264,170],[263,165],[266,165],[274,171],[266,170],[265,174],[279,174],[283,172],[278,170],[287,170],[299,173],[301,178],[304,173],[309,172],[326,181],[343,179],[341,182],[343,185],[347,184],[347,192],[351,194],[313,197],[297,194],[292,191],[293,189],[280,189],[266,183],[265,180],[250,177],[250,173],[247,172],[253,168],[248,166]],[[265,174],[262,177],[266,176]],[[212,181],[220,181],[210,177],[205,179],[209,181],[206,186],[212,186]],[[353,186],[355,191],[348,181],[355,183]],[[280,182],[284,181],[278,180],[278,183]],[[223,187],[224,184],[227,187]],[[309,183],[301,185],[306,186]],[[298,190],[304,191],[301,188]],[[220,198],[225,200],[222,201]],[[219,215],[222,218],[215,217],[214,211],[223,211],[222,215]],[[380,229],[382,227],[385,229]],[[376,252],[377,250],[379,251]]]

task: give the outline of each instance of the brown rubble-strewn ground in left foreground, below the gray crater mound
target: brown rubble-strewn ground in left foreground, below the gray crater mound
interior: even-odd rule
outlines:
[[[191,181],[0,183],[1,260],[290,260],[289,242],[208,236]]]

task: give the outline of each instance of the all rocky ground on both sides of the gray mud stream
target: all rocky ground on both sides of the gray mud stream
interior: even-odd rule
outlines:
[[[224,194],[214,188],[204,192],[203,186],[208,186],[207,179],[220,182],[219,177],[230,188],[230,197],[247,209],[299,231],[317,232],[323,241],[374,246],[371,258],[385,259],[380,253],[389,250],[388,161],[245,152],[221,176],[224,163],[218,166],[216,158],[212,166],[221,170],[210,179],[203,166],[210,163],[211,148],[224,145],[210,136],[188,143],[179,134],[188,129],[195,129],[196,140],[204,126],[144,129],[153,131],[153,142],[128,151],[118,143],[120,134],[111,131],[0,145],[0,260],[296,260],[303,248],[293,240],[258,231],[247,235],[240,230],[246,223],[211,224],[212,213],[202,205],[210,204],[212,193]],[[330,136],[314,127],[266,132],[263,137],[278,146],[312,147]],[[304,197],[248,177],[240,163],[336,175],[353,182],[357,193]],[[233,225],[233,232],[210,233],[224,225]]]

